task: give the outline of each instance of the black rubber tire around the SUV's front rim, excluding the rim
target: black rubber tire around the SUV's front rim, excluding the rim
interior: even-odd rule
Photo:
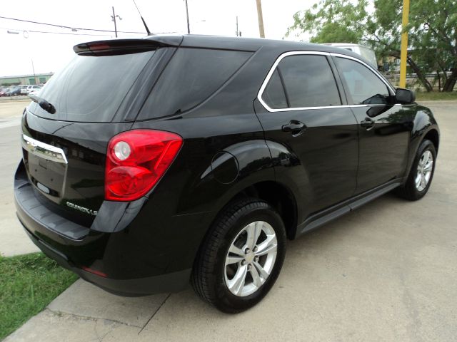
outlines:
[[[431,169],[431,176],[430,179],[427,182],[426,187],[423,190],[418,190],[416,187],[416,175],[418,172],[418,164],[419,161],[421,160],[421,157],[424,152],[430,151],[431,155],[433,156],[433,165]],[[410,201],[417,201],[418,199],[421,199],[426,195],[428,192],[428,189],[430,188],[431,182],[433,180],[433,174],[435,173],[435,165],[436,165],[436,148],[435,145],[433,145],[433,142],[430,140],[423,140],[421,142],[421,145],[419,146],[417,152],[416,152],[416,157],[414,157],[413,165],[411,166],[411,170],[409,172],[408,178],[403,185],[403,187],[398,188],[398,195],[401,195],[401,197],[406,198]]]

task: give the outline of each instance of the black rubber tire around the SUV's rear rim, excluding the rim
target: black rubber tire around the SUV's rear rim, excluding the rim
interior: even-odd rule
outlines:
[[[267,222],[276,234],[276,260],[268,278],[253,294],[236,296],[226,285],[226,256],[238,233],[257,221]],[[206,234],[194,263],[191,284],[201,299],[220,311],[235,314],[251,308],[266,296],[278,278],[285,254],[286,230],[276,210],[260,199],[241,199],[226,207]]]

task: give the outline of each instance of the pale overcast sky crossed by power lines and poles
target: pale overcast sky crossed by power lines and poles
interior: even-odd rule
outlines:
[[[266,38],[282,39],[293,14],[310,8],[317,0],[262,0]],[[187,33],[184,0],[136,0],[151,32]],[[188,0],[191,33],[235,36],[236,16],[242,36],[258,37],[256,0]],[[76,28],[114,30],[114,6],[119,31],[145,32],[132,0],[21,0],[5,1],[0,16],[39,21]],[[8,33],[15,32],[14,33]],[[53,31],[71,34],[39,33]],[[90,36],[94,35],[94,36]],[[98,36],[96,36],[98,34]],[[145,33],[119,33],[119,37],[141,37]],[[0,76],[56,72],[74,56],[77,43],[115,38],[114,33],[71,31],[0,19]],[[286,39],[298,40],[296,36]],[[301,37],[302,40],[303,36]]]

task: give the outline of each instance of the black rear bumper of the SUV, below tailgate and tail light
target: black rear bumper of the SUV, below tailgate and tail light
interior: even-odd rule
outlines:
[[[14,199],[19,221],[44,254],[82,279],[124,296],[186,289],[204,227],[208,227],[207,214],[166,217],[162,213],[165,217],[160,217],[148,201],[141,202],[138,210],[125,207],[119,220],[124,222],[122,227],[119,222],[111,226],[112,220],[102,219],[103,214],[91,227],[84,227],[41,204],[36,190],[24,180],[21,165],[16,172]],[[119,210],[111,213],[118,215]],[[151,218],[157,216],[158,223],[151,224]],[[96,230],[99,228],[104,231]]]

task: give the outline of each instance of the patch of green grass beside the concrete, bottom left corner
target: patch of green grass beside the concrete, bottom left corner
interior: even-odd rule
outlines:
[[[0,257],[0,341],[77,278],[42,253]]]

